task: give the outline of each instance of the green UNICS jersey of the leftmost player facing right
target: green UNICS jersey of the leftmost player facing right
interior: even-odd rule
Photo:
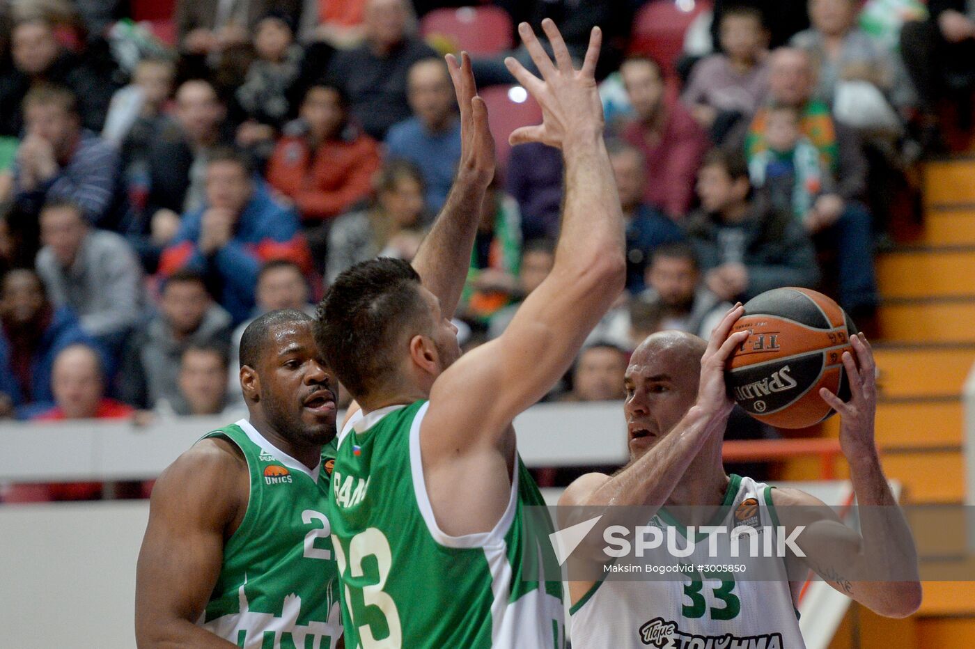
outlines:
[[[198,624],[247,649],[334,649],[342,634],[327,517],[334,442],[312,471],[246,419],[205,437],[241,449],[251,495]]]

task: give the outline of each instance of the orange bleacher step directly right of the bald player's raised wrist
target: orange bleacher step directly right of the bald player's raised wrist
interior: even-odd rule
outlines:
[[[960,446],[964,413],[961,400],[880,401],[877,444],[882,449]],[[823,436],[839,439],[839,417],[823,424]]]

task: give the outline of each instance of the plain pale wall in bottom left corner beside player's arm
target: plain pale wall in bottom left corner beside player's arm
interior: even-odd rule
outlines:
[[[146,501],[0,505],[0,647],[133,649]]]

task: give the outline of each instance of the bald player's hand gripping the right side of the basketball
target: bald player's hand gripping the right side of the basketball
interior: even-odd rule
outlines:
[[[856,360],[849,352],[843,352],[843,367],[850,384],[849,401],[827,390],[819,389],[819,396],[839,413],[839,446],[851,462],[857,456],[876,452],[874,443],[874,415],[877,412],[877,363],[867,336],[862,333],[850,336],[850,345]]]

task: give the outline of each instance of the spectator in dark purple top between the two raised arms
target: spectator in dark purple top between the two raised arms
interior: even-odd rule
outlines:
[[[557,239],[562,216],[562,151],[530,142],[511,150],[507,189],[522,211],[522,235],[531,239]]]

